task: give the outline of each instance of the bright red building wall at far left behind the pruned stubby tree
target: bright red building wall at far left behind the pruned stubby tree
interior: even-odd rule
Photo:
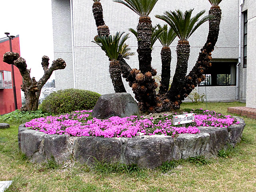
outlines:
[[[3,62],[3,55],[10,51],[9,40],[0,43],[0,70],[12,72],[11,65]],[[16,37],[12,40],[12,51],[20,53],[20,39]],[[21,90],[22,76],[20,71],[16,66],[14,66],[14,76],[16,85],[16,95],[17,95],[17,106],[18,109],[21,108]],[[12,82],[13,85],[13,82]],[[13,89],[0,89],[0,115],[12,112],[15,110],[14,106],[14,94]]]

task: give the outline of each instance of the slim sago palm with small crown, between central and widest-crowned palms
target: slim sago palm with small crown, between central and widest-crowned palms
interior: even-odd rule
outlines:
[[[161,84],[159,88],[159,94],[165,94],[169,89],[170,83],[170,67],[172,60],[172,52],[170,50],[170,44],[176,38],[176,34],[174,33],[172,28],[167,28],[167,25],[161,27],[158,25],[159,29],[162,29],[162,33],[158,37],[158,40],[162,44],[161,50],[161,61],[162,61],[162,74],[161,74]]]

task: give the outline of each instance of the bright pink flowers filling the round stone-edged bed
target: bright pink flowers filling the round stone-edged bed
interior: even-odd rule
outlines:
[[[186,124],[186,127],[173,126],[172,115],[163,114],[157,118],[130,116],[125,118],[111,117],[106,120],[92,118],[92,110],[75,111],[60,116],[36,118],[27,122],[26,127],[39,130],[46,134],[66,134],[70,136],[98,136],[98,137],[134,137],[142,135],[200,133],[198,126],[228,127],[239,122],[231,116],[224,116],[214,111],[193,110],[195,122]]]

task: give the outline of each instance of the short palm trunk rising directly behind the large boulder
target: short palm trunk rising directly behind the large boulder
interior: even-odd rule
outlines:
[[[122,82],[122,71],[119,61],[111,61],[109,65],[109,74],[112,80],[112,84],[114,86],[114,90],[116,93],[124,93],[126,92],[124,88],[124,84]]]

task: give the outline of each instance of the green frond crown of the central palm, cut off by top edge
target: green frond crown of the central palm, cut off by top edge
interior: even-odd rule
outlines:
[[[148,16],[158,0],[114,0],[136,12],[140,17]]]

